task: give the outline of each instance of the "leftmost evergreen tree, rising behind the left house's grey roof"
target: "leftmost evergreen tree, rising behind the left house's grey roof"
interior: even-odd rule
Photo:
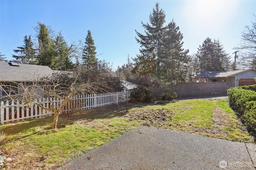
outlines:
[[[31,35],[28,37],[24,36],[24,45],[17,47],[18,50],[13,50],[15,53],[20,55],[12,55],[17,61],[23,64],[34,64],[36,62],[36,49],[34,49],[34,43],[31,40]]]

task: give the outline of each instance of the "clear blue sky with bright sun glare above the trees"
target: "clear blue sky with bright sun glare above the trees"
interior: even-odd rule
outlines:
[[[24,45],[25,35],[35,35],[37,22],[62,31],[65,40],[85,41],[90,30],[100,60],[117,66],[136,57],[140,45],[135,29],[149,22],[155,0],[0,0],[0,52],[12,60],[13,50]],[[210,37],[219,39],[233,56],[244,26],[255,21],[255,0],[158,0],[166,25],[174,19],[183,34],[184,49],[196,53]],[[34,37],[33,37],[34,39]]]

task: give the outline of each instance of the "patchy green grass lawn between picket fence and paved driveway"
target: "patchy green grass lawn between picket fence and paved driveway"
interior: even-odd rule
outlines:
[[[0,140],[0,149],[12,158],[4,167],[56,169],[140,125],[254,142],[254,137],[228,106],[227,98],[99,107],[61,115],[55,130],[51,129],[52,121],[53,116],[48,116],[1,125],[0,130],[6,137]]]

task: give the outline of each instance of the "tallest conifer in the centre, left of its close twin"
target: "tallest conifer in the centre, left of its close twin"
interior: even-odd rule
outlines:
[[[156,3],[153,12],[149,16],[150,24],[141,22],[146,35],[135,30],[138,36],[138,38],[136,37],[136,41],[140,44],[140,54],[136,55],[134,59],[134,70],[141,76],[154,73],[157,77],[160,77],[160,59],[165,17],[164,10],[160,9],[159,3]]]

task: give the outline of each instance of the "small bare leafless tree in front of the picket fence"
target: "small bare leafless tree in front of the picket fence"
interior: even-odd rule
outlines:
[[[52,75],[40,78],[34,82],[12,82],[11,84],[0,84],[0,90],[4,92],[5,98],[13,101],[22,101],[23,106],[30,106],[36,104],[42,109],[54,112],[54,121],[52,128],[56,129],[58,116],[62,109],[66,106],[68,101],[76,94],[90,94],[96,92],[110,91],[110,79],[102,78],[100,81],[94,79],[93,81],[84,79],[86,74],[82,68],[73,70],[72,72],[62,71],[55,72]],[[92,76],[92,75],[91,75]],[[104,74],[101,74],[104,76]],[[98,76],[100,77],[100,76]],[[41,98],[42,100],[38,100]],[[46,99],[58,99],[60,104],[54,105],[49,103],[49,107],[45,107]],[[16,104],[21,106],[20,103]]]

